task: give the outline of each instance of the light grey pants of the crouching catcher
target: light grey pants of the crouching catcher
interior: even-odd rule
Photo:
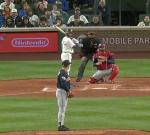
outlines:
[[[92,77],[99,80],[105,76],[111,75],[111,72],[112,72],[112,68],[107,69],[107,70],[97,70],[97,72]]]

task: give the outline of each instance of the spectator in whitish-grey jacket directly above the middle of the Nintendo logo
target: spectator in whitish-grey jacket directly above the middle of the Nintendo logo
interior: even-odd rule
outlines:
[[[34,26],[38,26],[38,24],[39,24],[39,17],[37,15],[34,15],[33,11],[31,9],[28,10],[27,15],[29,17],[30,23],[33,24]]]

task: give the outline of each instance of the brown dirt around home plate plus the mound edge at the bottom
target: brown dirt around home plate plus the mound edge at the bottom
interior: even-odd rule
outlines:
[[[75,79],[71,79],[73,83]],[[8,85],[9,84],[9,85]],[[46,91],[43,89],[47,87]],[[56,80],[16,80],[0,82],[0,97],[41,97],[55,98]],[[150,96],[150,78],[117,78],[115,84],[89,84],[88,78],[82,79],[73,87],[75,98],[110,98],[110,97],[141,97]],[[85,92],[86,91],[86,92]],[[87,131],[37,131],[3,133],[1,135],[149,135],[143,131],[127,130],[87,130]]]

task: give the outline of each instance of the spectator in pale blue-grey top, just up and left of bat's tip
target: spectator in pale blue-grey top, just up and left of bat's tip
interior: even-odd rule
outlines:
[[[53,26],[55,24],[56,16],[49,10],[45,11],[45,16],[47,17],[48,25]]]

